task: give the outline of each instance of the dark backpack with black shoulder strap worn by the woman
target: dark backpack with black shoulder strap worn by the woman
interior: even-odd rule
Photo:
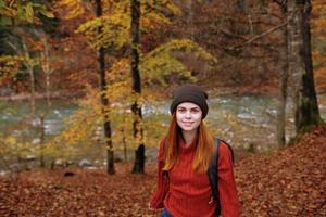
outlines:
[[[220,203],[220,199],[218,199],[218,179],[217,179],[217,162],[218,162],[218,145],[221,143],[221,141],[217,138],[214,139],[214,145],[213,145],[213,156],[212,156],[212,161],[210,163],[209,169],[208,169],[208,176],[209,176],[209,181],[211,184],[211,189],[212,189],[212,197],[213,201],[217,202],[216,205],[216,216],[221,215],[221,203]],[[234,151],[233,148],[226,143],[225,141],[223,141],[226,146],[229,149],[230,153],[231,153],[231,159],[233,162],[235,162],[235,156],[234,156]],[[164,146],[165,146],[165,141],[164,141]],[[167,171],[164,173],[165,176],[168,176]]]

